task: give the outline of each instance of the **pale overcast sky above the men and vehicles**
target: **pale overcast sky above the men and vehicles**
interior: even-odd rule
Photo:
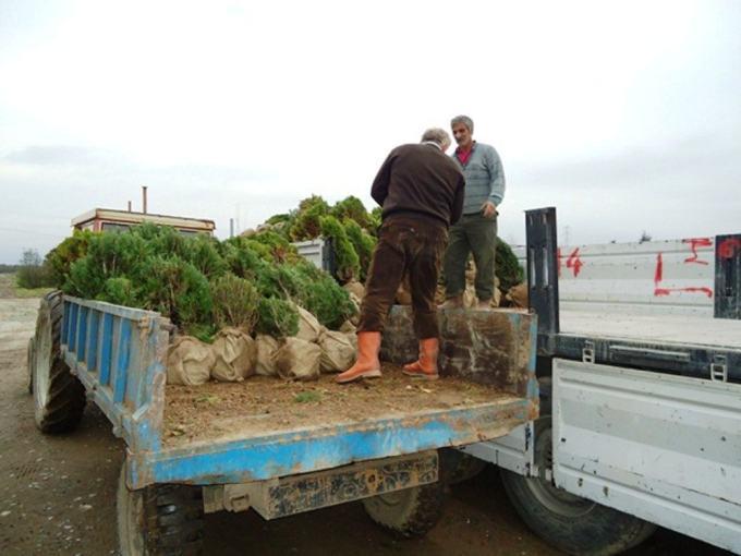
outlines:
[[[0,0],[0,263],[94,207],[245,229],[361,197],[388,150],[470,114],[500,235],[741,232],[741,1]]]

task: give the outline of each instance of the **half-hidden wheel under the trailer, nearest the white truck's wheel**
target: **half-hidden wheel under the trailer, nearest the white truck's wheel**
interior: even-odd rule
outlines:
[[[441,482],[379,494],[363,500],[365,512],[379,525],[408,539],[424,536],[442,515]]]

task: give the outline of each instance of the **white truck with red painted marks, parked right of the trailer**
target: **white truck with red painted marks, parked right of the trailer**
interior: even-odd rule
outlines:
[[[526,227],[540,416],[464,451],[499,466],[523,520],[569,554],[618,554],[656,525],[741,554],[741,234],[688,245],[691,268],[697,247],[712,253],[696,265],[714,270],[709,285],[667,276],[651,255],[654,303],[669,311],[641,310],[642,285],[624,281],[630,291],[599,303],[569,285],[561,315],[559,274],[590,261],[558,252],[554,208],[529,210]],[[607,293],[645,251],[603,265]],[[627,312],[617,300],[631,292]]]

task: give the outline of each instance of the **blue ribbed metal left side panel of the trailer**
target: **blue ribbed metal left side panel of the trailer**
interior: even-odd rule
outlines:
[[[64,297],[61,348],[72,373],[132,451],[161,447],[168,323],[158,313]]]

